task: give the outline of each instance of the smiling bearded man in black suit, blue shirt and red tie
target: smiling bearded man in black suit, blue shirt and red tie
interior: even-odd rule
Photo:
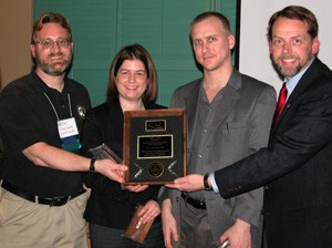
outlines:
[[[229,198],[264,185],[268,248],[332,247],[332,73],[317,58],[318,21],[303,7],[287,7],[270,18],[268,39],[287,87],[268,147],[173,187],[196,192],[206,184]]]

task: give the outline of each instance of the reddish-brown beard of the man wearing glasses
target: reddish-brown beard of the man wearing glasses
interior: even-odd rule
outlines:
[[[46,74],[54,76],[62,75],[71,65],[72,55],[69,54],[68,58],[54,63],[50,62],[52,60],[52,56],[64,56],[64,54],[62,52],[51,53],[45,59],[42,59],[39,55],[37,55],[35,62],[38,66]]]

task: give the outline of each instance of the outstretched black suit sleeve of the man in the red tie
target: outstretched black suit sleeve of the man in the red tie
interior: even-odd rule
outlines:
[[[284,176],[331,144],[332,85],[328,81],[312,85],[291,103],[268,148],[215,173],[222,197],[242,194]]]

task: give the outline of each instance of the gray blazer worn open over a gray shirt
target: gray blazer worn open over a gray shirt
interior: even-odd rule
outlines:
[[[175,90],[170,107],[184,107],[187,112],[187,146],[190,151],[196,117],[197,100],[203,79]],[[222,89],[220,112],[215,116],[215,131],[210,135],[212,144],[207,172],[222,168],[268,144],[272,115],[276,108],[276,91],[272,86],[240,74],[234,69],[232,75]],[[187,165],[190,166],[190,165]],[[172,199],[173,214],[179,225],[180,192],[166,189]],[[252,225],[252,247],[260,247],[262,188],[224,199],[214,192],[205,192],[208,220],[218,244],[220,236],[240,218]],[[174,244],[178,247],[178,244]]]

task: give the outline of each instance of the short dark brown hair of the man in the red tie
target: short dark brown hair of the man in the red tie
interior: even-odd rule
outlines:
[[[314,39],[319,33],[319,24],[315,16],[308,9],[301,6],[289,6],[276,12],[269,20],[268,40],[272,40],[272,27],[279,18],[299,20],[308,23],[308,33]]]

